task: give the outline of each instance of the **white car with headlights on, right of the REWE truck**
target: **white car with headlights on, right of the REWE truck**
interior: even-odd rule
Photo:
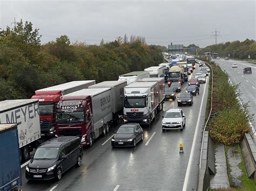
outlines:
[[[182,109],[169,109],[162,117],[163,131],[166,129],[180,129],[180,131],[183,131],[186,125],[186,116]]]

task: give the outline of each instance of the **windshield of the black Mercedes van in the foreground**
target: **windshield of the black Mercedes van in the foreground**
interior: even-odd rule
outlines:
[[[37,148],[33,159],[56,159],[59,152],[57,147],[39,147]]]

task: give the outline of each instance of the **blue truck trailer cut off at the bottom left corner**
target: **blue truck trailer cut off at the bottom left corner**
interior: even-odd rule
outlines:
[[[0,124],[0,191],[22,185],[17,124]]]

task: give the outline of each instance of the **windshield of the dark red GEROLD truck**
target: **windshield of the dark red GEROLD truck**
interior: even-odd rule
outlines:
[[[57,123],[81,123],[84,121],[84,112],[57,112]]]

